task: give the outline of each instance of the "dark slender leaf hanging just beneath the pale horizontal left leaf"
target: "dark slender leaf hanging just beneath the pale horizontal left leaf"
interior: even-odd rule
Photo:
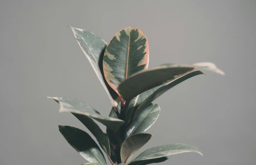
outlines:
[[[85,125],[89,131],[95,136],[97,141],[100,143],[101,148],[106,152],[107,155],[111,155],[110,146],[109,146],[109,138],[100,127],[89,117],[76,113],[72,113],[76,118],[78,118],[83,125]]]

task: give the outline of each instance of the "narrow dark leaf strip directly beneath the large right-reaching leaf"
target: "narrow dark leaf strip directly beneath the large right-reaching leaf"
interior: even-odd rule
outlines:
[[[156,100],[159,96],[161,96],[163,93],[168,91],[169,89],[173,88],[174,86],[178,85],[179,83],[194,77],[199,74],[204,74],[202,71],[193,71],[188,74],[185,74],[182,77],[179,77],[172,82],[168,82],[167,84],[164,84],[160,86],[156,91],[154,91],[150,96],[147,97],[136,109],[134,117],[137,117],[137,115],[144,109],[146,108],[152,101]],[[150,90],[149,90],[150,91]],[[143,93],[142,93],[143,94]]]

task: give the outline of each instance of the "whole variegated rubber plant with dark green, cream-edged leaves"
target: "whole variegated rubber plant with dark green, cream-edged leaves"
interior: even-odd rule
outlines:
[[[88,58],[112,104],[109,117],[102,116],[84,101],[49,97],[60,104],[60,112],[71,112],[97,139],[112,165],[128,163],[151,138],[145,133],[160,114],[159,105],[152,103],[175,85],[206,69],[224,74],[210,62],[191,65],[166,64],[148,68],[149,46],[146,35],[138,28],[118,31],[107,44],[94,33],[71,27],[75,39]],[[106,110],[106,109],[104,109]],[[105,125],[106,133],[94,122]],[[106,165],[95,141],[81,129],[59,126],[67,142],[81,154],[88,165]],[[164,144],[141,152],[129,165],[146,165],[166,161],[171,155],[197,152],[194,146]]]

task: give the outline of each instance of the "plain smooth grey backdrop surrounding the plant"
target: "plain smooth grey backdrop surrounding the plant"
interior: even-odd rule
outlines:
[[[149,67],[211,61],[225,71],[225,76],[206,71],[157,99],[161,114],[147,131],[153,137],[138,153],[186,143],[204,156],[174,155],[159,165],[256,163],[255,0],[1,0],[0,23],[1,165],[87,162],[58,125],[87,129],[45,98],[78,98],[103,115],[111,108],[67,25],[107,42],[125,27],[138,27],[149,41]]]

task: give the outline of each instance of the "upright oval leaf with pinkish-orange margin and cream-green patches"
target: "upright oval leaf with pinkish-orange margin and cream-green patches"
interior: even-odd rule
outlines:
[[[118,85],[132,74],[147,69],[149,46],[146,35],[138,28],[128,27],[109,41],[103,58],[103,71],[110,87]]]

